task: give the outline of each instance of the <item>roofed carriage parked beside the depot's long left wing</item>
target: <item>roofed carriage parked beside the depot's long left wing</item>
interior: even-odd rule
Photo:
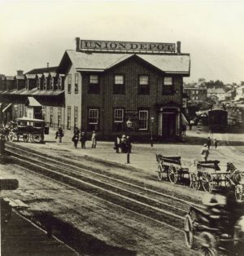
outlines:
[[[17,118],[15,122],[11,122],[8,139],[10,141],[23,139],[24,142],[30,140],[33,143],[42,143],[44,141],[44,135],[48,134],[49,127],[45,126],[44,120],[21,117]]]

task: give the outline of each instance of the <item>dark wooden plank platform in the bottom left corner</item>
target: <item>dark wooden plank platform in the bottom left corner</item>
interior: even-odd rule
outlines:
[[[11,219],[1,239],[1,250],[2,256],[80,255],[54,237],[47,237],[46,232],[15,210],[12,210]]]

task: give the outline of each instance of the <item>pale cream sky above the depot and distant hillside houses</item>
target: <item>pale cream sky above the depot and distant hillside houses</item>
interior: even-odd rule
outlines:
[[[185,82],[244,81],[243,1],[0,0],[0,73],[59,65],[75,38],[177,42],[190,53]]]

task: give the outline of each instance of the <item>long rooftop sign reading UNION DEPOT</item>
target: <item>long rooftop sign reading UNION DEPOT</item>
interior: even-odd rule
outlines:
[[[76,38],[76,40],[76,51],[161,51],[174,53],[176,48],[174,43],[94,41],[80,40],[80,38]]]

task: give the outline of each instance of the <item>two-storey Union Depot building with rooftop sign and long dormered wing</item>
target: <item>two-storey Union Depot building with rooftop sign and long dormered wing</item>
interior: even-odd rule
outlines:
[[[50,129],[74,126],[98,139],[179,140],[183,77],[190,54],[181,42],[111,42],[76,38],[58,67],[0,77],[0,120],[45,119]],[[132,127],[127,127],[127,121]]]

